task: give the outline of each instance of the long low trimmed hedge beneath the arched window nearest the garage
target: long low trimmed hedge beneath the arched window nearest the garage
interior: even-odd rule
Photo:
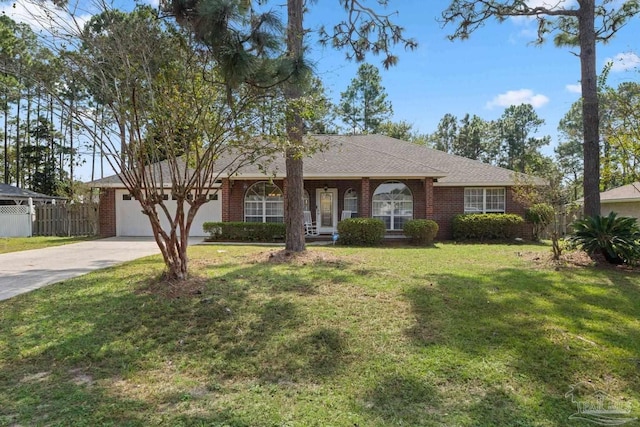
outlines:
[[[218,242],[276,242],[285,236],[285,225],[279,222],[205,222],[202,228],[208,240]]]

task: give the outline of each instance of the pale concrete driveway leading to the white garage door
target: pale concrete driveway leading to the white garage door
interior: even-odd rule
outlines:
[[[202,239],[190,239],[189,244]],[[0,254],[0,300],[100,268],[160,253],[153,238],[111,237]]]

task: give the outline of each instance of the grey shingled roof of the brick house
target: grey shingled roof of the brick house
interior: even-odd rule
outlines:
[[[504,186],[515,183],[516,173],[512,170],[384,135],[312,135],[305,138],[309,144],[321,147],[310,157],[304,158],[305,179],[430,177],[437,180],[435,185],[438,186]],[[221,165],[226,163],[224,159],[219,161]],[[164,170],[166,164],[158,164],[154,168]],[[284,156],[276,156],[268,164],[245,165],[233,175],[233,179],[262,179],[265,173],[272,177],[284,177]],[[535,177],[525,177],[521,182],[544,183]],[[122,185],[117,175],[90,184],[94,187]]]

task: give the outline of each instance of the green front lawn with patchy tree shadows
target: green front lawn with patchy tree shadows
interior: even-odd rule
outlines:
[[[179,298],[150,257],[1,302],[0,425],[579,426],[579,382],[640,415],[637,274],[544,246],[266,250],[190,248]]]

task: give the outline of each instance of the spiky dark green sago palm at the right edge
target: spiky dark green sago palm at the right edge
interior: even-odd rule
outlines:
[[[573,233],[567,241],[589,255],[601,253],[611,264],[637,264],[640,260],[640,227],[635,218],[596,215],[571,224]]]

